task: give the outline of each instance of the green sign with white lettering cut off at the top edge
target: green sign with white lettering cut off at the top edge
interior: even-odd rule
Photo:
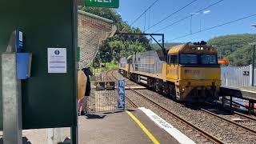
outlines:
[[[85,0],[86,6],[118,8],[119,0]]]

